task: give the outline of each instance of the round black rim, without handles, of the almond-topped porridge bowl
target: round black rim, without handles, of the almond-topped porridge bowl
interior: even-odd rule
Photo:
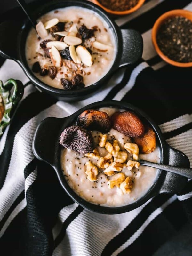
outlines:
[[[73,5],[71,5],[73,4]],[[63,5],[60,7],[57,7],[59,5]],[[53,8],[54,6],[54,8]],[[58,89],[55,88],[51,85],[45,84],[44,82],[42,82],[40,79],[38,79],[32,72],[32,70],[29,68],[28,63],[27,63],[27,59],[26,59],[26,55],[25,55],[25,45],[26,45],[26,39],[28,36],[28,33],[30,31],[31,24],[29,22],[29,20],[25,20],[23,25],[22,25],[22,29],[20,31],[20,35],[18,38],[18,45],[19,45],[19,64],[20,66],[24,69],[25,73],[28,75],[29,79],[38,87],[42,88],[44,91],[49,91],[49,92],[53,92],[56,93],[57,96],[67,96],[67,97],[76,97],[76,96],[83,96],[84,94],[88,94],[91,93],[95,90],[97,90],[98,88],[102,87],[105,85],[105,82],[108,80],[109,77],[111,77],[112,73],[114,72],[114,70],[118,69],[118,63],[120,62],[120,57],[121,57],[121,53],[122,53],[122,47],[120,47],[120,44],[122,44],[122,35],[120,33],[120,28],[116,25],[116,23],[111,20],[108,17],[107,12],[105,12],[102,8],[100,8],[99,6],[93,4],[92,2],[89,2],[87,0],[84,1],[79,1],[79,0],[56,0],[54,1],[54,3],[46,3],[43,4],[41,7],[39,7],[35,12],[34,12],[34,17],[36,17],[36,19],[38,19],[39,17],[41,17],[42,15],[46,14],[47,12],[50,11],[54,11],[57,10],[59,8],[66,8],[66,7],[83,7],[86,9],[91,9],[92,11],[96,12],[103,20],[105,20],[107,22],[107,24],[109,25],[109,27],[112,30],[112,34],[114,36],[114,40],[115,40],[115,45],[116,45],[116,53],[115,53],[115,58],[113,60],[113,65],[111,66],[111,68],[109,69],[109,71],[107,72],[107,74],[105,76],[103,76],[100,80],[98,80],[96,83],[91,84],[89,86],[84,87],[83,89],[78,89],[78,90],[64,90],[64,89]],[[90,7],[90,8],[89,8]],[[37,15],[38,13],[38,15]]]

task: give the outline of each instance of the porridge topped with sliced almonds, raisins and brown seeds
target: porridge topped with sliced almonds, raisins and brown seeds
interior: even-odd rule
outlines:
[[[96,83],[112,67],[116,46],[108,24],[82,7],[48,12],[31,29],[26,59],[45,84],[76,90]]]

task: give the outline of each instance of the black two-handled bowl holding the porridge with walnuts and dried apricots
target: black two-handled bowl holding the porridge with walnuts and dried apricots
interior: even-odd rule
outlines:
[[[125,110],[134,111],[141,120],[147,121],[147,123],[156,132],[157,145],[160,149],[160,163],[170,164],[173,166],[190,167],[188,157],[182,152],[171,148],[164,140],[159,127],[151,120],[151,118],[139,108],[132,106],[131,104],[120,101],[100,101],[92,103],[84,108],[81,108],[76,113],[65,118],[49,117],[44,119],[36,129],[33,139],[33,152],[35,156],[48,164],[50,164],[57,176],[62,187],[68,193],[68,195],[79,205],[85,209],[103,213],[103,214],[119,214],[129,212],[140,205],[144,204],[148,199],[161,193],[178,193],[187,184],[187,178],[171,172],[158,171],[157,178],[148,190],[148,192],[139,198],[136,202],[128,204],[122,207],[103,207],[92,203],[89,203],[78,196],[68,185],[63,172],[61,170],[60,155],[63,148],[59,144],[59,137],[61,132],[73,124],[76,124],[77,117],[86,109],[99,109],[101,107],[115,107]]]

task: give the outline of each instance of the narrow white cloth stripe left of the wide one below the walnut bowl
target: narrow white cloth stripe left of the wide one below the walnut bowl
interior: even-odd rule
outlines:
[[[66,207],[63,207],[59,214],[58,214],[58,221],[57,223],[55,224],[55,226],[53,227],[53,230],[52,230],[52,233],[53,233],[53,239],[55,240],[55,238],[59,235],[60,231],[61,231],[61,228],[62,228],[62,223],[68,218],[68,216],[74,212],[74,210],[78,207],[78,204],[77,203],[74,203],[74,204],[71,204],[71,205],[68,205]],[[54,250],[53,252],[53,255],[55,253],[55,251],[57,250]]]

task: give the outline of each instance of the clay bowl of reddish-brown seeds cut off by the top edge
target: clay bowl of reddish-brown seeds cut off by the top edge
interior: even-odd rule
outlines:
[[[113,15],[126,15],[138,10],[145,0],[92,0],[106,12]]]

